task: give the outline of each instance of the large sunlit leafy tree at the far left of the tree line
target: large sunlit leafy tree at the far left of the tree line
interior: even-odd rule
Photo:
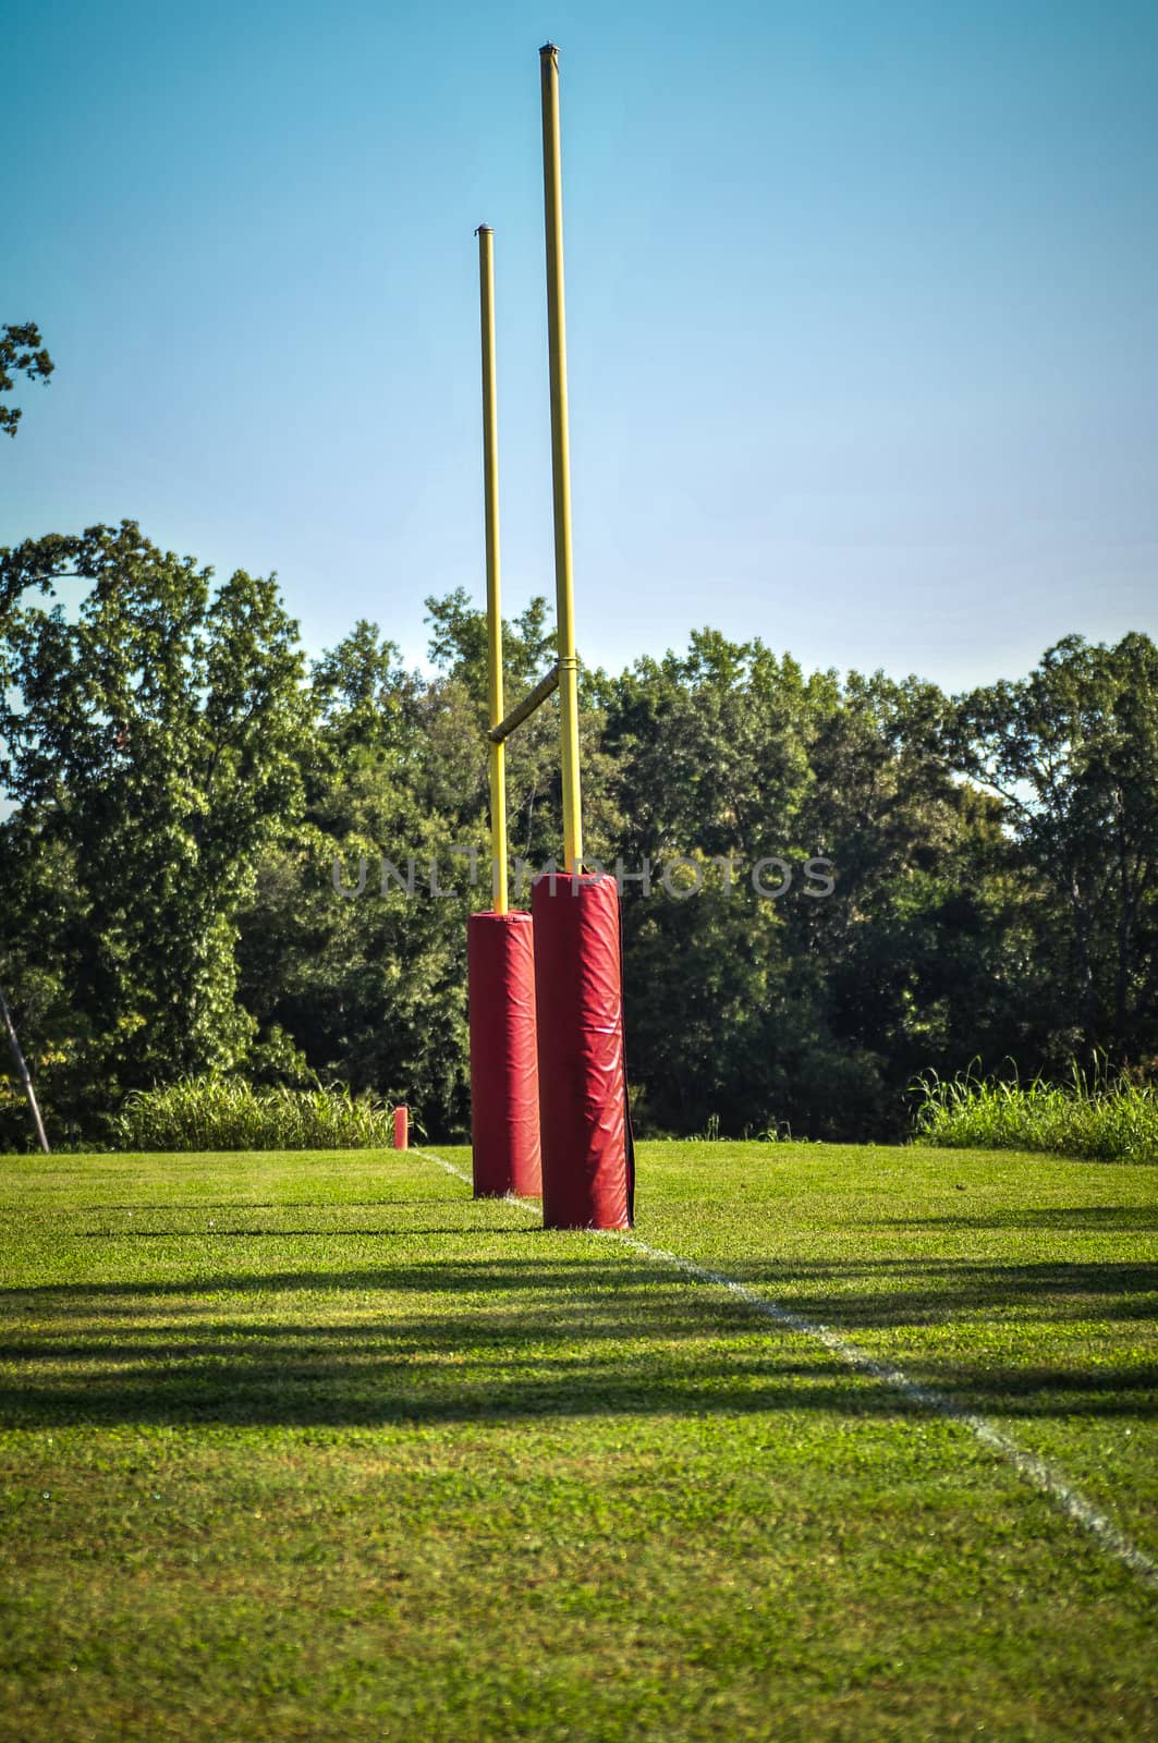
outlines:
[[[0,626],[0,882],[21,898],[0,952],[56,973],[112,1086],[235,1067],[237,913],[302,805],[296,624],[272,577],[213,589],[134,521],[0,553],[0,573],[92,584],[75,622],[16,605]]]

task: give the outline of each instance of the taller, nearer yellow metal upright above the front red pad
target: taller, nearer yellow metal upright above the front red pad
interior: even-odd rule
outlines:
[[[551,356],[551,474],[555,481],[555,615],[563,765],[563,863],[582,865],[579,795],[579,659],[570,572],[570,439],[567,432],[567,317],[563,310],[563,174],[558,127],[558,49],[539,49],[542,77],[542,204],[548,239],[548,347]]]

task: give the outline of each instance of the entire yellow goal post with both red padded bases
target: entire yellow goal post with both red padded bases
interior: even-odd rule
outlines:
[[[474,1194],[478,1197],[541,1190],[542,1222],[548,1229],[630,1229],[635,1208],[635,1150],[623,1042],[619,885],[612,877],[582,868],[563,178],[555,44],[548,42],[539,51],[539,68],[558,659],[530,695],[504,715],[494,235],[481,225],[478,256],[483,343],[488,770],[495,891],[492,912],[473,913],[467,933]],[[504,744],[507,736],[556,688],[563,872],[551,872],[534,880],[530,913],[511,912],[506,889]]]

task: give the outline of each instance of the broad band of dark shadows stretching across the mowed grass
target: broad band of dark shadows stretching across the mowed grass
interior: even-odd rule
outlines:
[[[961,1279],[966,1271],[968,1278]],[[1142,1267],[792,1265],[752,1281],[849,1330],[1050,1300],[1132,1318]],[[849,1293],[849,1281],[868,1283]],[[825,1293],[841,1286],[842,1293]],[[274,1297],[291,1297],[281,1302]],[[401,1300],[399,1300],[401,1297]],[[417,1262],[188,1281],[54,1285],[0,1295],[0,1421],[433,1424],[778,1410],[907,1415],[799,1333],[657,1265],[605,1260]],[[917,1370],[914,1370],[917,1377]],[[919,1377],[984,1414],[1158,1414],[1158,1367],[938,1360]]]

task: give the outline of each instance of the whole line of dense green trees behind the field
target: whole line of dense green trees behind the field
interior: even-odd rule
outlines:
[[[133,521],[0,551],[0,987],[58,1143],[206,1072],[344,1081],[467,1131],[485,621],[464,591],[427,614],[431,673],[370,622],[309,659],[274,577],[216,584]],[[504,650],[513,706],[555,657],[546,601]],[[975,1058],[1153,1072],[1148,636],[1067,636],[945,695],[699,629],[584,671],[581,715],[644,1135],[895,1138],[914,1075]],[[509,741],[535,868],[560,852],[556,746],[555,702]],[[28,1138],[12,1074],[0,1147]]]

